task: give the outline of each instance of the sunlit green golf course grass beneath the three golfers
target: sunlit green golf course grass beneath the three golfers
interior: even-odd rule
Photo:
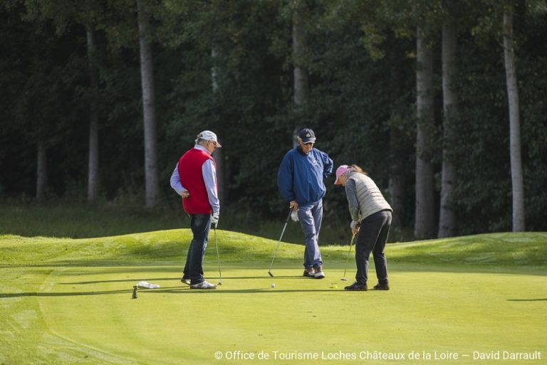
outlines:
[[[0,364],[546,363],[546,233],[388,245],[388,292],[343,290],[348,246],[322,248],[313,280],[301,245],[283,243],[269,277],[276,241],[218,238],[223,284],[199,291],[179,281],[187,230],[0,236]],[[131,299],[140,280],[160,288]]]

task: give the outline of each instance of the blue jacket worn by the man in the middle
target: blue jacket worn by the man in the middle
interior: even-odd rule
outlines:
[[[298,146],[283,157],[277,173],[277,186],[286,201],[299,206],[311,206],[325,196],[323,179],[333,172],[333,160],[328,154],[313,148],[304,154]]]

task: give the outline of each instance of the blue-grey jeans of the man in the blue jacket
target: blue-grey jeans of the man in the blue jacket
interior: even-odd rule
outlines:
[[[323,266],[321,251],[319,250],[318,239],[323,221],[323,201],[311,206],[298,207],[298,221],[304,233],[304,268],[316,268]]]

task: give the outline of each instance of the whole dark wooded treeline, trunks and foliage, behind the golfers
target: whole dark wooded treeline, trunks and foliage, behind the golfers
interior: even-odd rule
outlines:
[[[416,238],[545,231],[543,0],[5,0],[0,197],[179,202],[203,129],[224,207],[286,210],[302,127]],[[327,218],[347,221],[328,185]]]

